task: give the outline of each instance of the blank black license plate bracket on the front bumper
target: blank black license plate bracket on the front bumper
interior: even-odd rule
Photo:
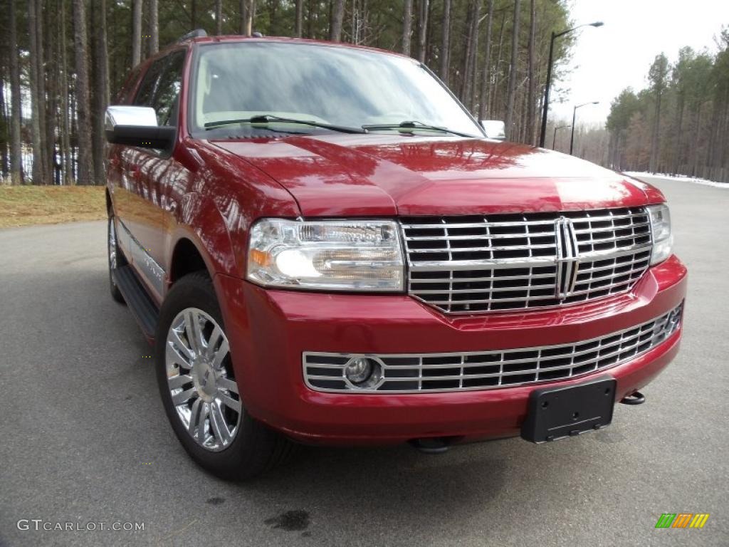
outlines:
[[[612,422],[616,387],[612,376],[602,376],[584,384],[535,389],[521,437],[545,443],[606,427]]]

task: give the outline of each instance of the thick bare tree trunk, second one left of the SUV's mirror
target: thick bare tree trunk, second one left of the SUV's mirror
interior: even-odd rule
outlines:
[[[141,7],[141,0],[139,3]],[[76,100],[77,100],[77,141],[79,146],[79,165],[77,182],[88,185],[92,182],[91,168],[91,127],[89,106],[89,74],[86,39],[86,12],[84,0],[74,0],[74,50],[76,56]],[[139,54],[139,52],[138,52]]]

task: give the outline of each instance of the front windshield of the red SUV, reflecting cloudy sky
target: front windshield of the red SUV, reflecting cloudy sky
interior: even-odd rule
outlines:
[[[417,122],[482,136],[448,90],[408,58],[348,47],[281,42],[201,46],[192,97],[192,128],[214,135],[266,133],[252,124],[218,124],[259,115],[370,131],[404,131]],[[273,120],[271,129],[330,131]],[[395,127],[383,127],[394,125]],[[432,133],[426,128],[408,132]],[[444,134],[444,133],[440,133]]]

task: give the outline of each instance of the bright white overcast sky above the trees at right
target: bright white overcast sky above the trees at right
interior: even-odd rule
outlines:
[[[685,45],[714,53],[714,36],[722,23],[729,25],[729,0],[572,0],[572,18],[605,24],[575,31],[572,61],[559,82],[569,93],[563,104],[550,104],[550,116],[571,120],[574,104],[600,101],[577,110],[577,123],[603,122],[623,88],[647,85],[650,63],[661,51],[670,62]]]

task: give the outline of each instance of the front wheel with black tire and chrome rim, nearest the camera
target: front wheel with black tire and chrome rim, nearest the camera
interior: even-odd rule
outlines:
[[[165,413],[190,457],[215,475],[256,476],[290,451],[290,441],[243,406],[225,325],[206,274],[184,276],[163,302],[155,365]]]

